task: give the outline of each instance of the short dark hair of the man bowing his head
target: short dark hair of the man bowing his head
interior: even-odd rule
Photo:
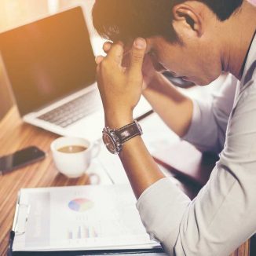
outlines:
[[[206,4],[219,20],[227,20],[243,0],[198,0]],[[93,25],[104,38],[127,42],[137,37],[163,36],[177,42],[171,26],[174,5],[185,0],[96,0]]]

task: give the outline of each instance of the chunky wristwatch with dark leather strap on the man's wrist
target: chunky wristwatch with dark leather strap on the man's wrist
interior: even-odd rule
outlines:
[[[117,130],[104,127],[102,131],[102,140],[109,152],[112,154],[119,154],[126,141],[141,134],[141,126],[137,123],[137,120],[134,120],[133,123],[127,124]]]

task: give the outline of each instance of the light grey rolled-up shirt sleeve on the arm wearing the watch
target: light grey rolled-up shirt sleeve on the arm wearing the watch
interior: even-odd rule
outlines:
[[[168,178],[146,189],[137,209],[169,255],[227,256],[256,231],[256,84],[232,110],[225,147],[192,201]]]

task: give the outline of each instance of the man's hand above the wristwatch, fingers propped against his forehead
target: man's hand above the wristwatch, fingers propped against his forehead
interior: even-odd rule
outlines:
[[[142,65],[146,41],[137,38],[130,54],[130,66],[124,68],[123,43],[111,46],[106,57],[97,57],[97,83],[104,105],[105,122],[119,128],[133,121],[133,108],[140,100],[143,85]]]

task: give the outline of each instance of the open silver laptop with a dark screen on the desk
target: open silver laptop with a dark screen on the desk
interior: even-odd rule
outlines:
[[[101,137],[104,112],[80,6],[2,32],[0,53],[24,122],[62,136]],[[137,115],[148,110],[143,102]]]

